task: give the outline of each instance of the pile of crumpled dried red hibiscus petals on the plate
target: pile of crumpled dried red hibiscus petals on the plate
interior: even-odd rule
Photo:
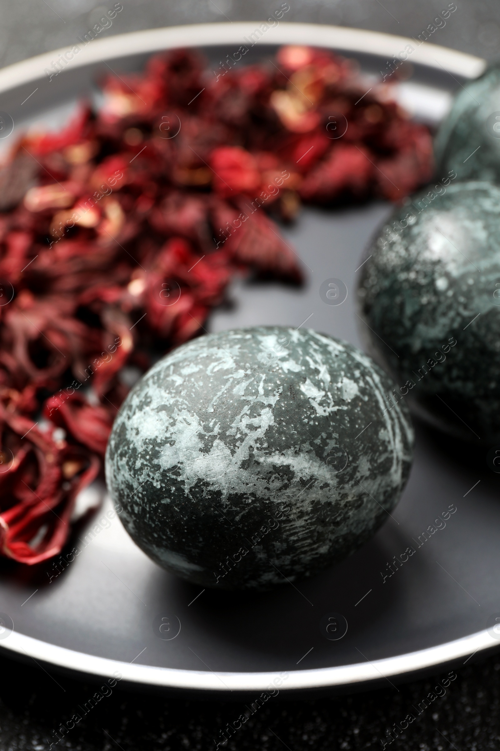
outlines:
[[[16,144],[0,170],[4,556],[61,550],[130,374],[203,330],[235,273],[300,281],[270,215],[430,178],[427,128],[386,91],[307,47],[215,75],[175,51]]]

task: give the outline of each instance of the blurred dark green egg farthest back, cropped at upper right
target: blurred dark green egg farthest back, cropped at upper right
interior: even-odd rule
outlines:
[[[436,137],[436,178],[500,181],[500,66],[466,83]]]

